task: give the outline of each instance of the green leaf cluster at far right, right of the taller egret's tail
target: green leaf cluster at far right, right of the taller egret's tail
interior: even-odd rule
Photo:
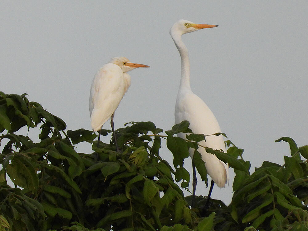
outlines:
[[[248,176],[235,169],[234,195],[229,205],[235,226],[252,226],[258,230],[308,229],[307,146],[297,148],[289,137],[276,142],[290,144],[291,156],[284,156],[281,166],[264,161]],[[234,227],[230,224],[230,227]]]

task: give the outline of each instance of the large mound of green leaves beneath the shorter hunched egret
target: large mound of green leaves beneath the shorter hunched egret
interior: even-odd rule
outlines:
[[[0,99],[1,117],[7,118],[1,122],[7,134],[0,136],[0,215],[12,230],[157,230],[192,224],[175,172],[159,156],[162,129],[132,122],[116,131],[121,152],[101,141],[97,148],[93,132],[66,134],[64,121],[25,95],[2,92]],[[26,125],[41,125],[38,143],[14,133]],[[80,142],[93,143],[94,152],[77,153],[73,144]]]

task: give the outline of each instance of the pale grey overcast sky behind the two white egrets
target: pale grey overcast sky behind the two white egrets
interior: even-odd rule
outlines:
[[[111,57],[125,56],[151,68],[129,72],[132,83],[115,128],[152,121],[166,131],[174,124],[180,82],[180,55],[169,30],[179,19],[216,24],[182,37],[191,88],[222,132],[244,148],[253,172],[264,160],[282,164],[290,155],[287,143],[274,140],[289,136],[298,146],[308,144],[307,12],[306,0],[1,1],[0,91],[26,92],[67,129],[91,130],[94,74]],[[78,151],[91,153],[91,146]],[[172,163],[167,148],[161,156]],[[190,160],[185,167],[191,169]],[[230,170],[229,187],[216,186],[212,197],[229,204],[233,177]],[[199,178],[197,195],[207,193]]]

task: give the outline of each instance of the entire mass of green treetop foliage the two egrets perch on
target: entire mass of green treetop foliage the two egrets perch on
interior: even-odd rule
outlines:
[[[24,126],[40,126],[38,143],[18,135]],[[163,132],[152,122],[130,122],[116,130],[116,152],[112,141],[97,148],[94,132],[66,131],[63,120],[26,94],[0,92],[0,231],[308,230],[308,146],[276,140],[290,144],[285,164],[265,161],[251,175],[243,150],[231,141],[227,153],[206,148],[234,169],[234,194],[229,206],[212,200],[205,210],[206,197],[197,197],[191,209],[191,196],[183,194],[190,182],[183,160],[195,148],[194,163],[207,184],[197,151],[206,136],[191,134],[188,126],[183,121]],[[175,136],[179,132],[187,139]],[[159,155],[162,139],[174,168]],[[92,144],[90,153],[76,152],[73,145],[83,142]]]

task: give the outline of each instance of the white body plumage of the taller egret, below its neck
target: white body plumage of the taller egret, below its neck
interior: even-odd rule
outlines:
[[[205,135],[221,132],[219,124],[209,109],[209,107],[193,92],[179,91],[175,107],[175,123],[179,124],[183,120],[188,120],[193,133]],[[178,134],[183,139],[185,134]],[[222,136],[206,136],[205,141],[199,144],[205,147],[213,148],[226,152]],[[223,188],[228,179],[228,165],[219,160],[215,155],[205,152],[205,148],[199,147],[202,160],[205,162],[205,168],[212,180]],[[190,149],[189,154],[193,157],[194,150]]]

